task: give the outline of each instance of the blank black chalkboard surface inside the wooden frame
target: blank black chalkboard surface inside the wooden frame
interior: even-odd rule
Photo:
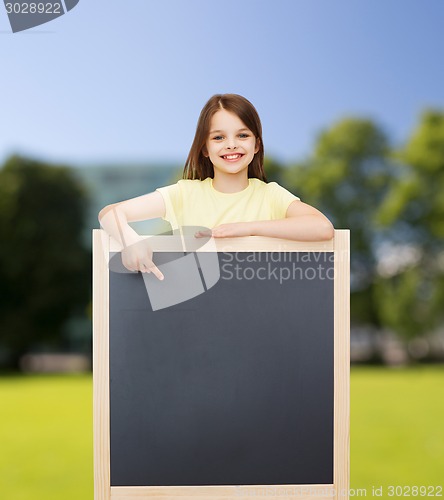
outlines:
[[[218,256],[157,311],[109,273],[111,486],[332,484],[334,252]]]

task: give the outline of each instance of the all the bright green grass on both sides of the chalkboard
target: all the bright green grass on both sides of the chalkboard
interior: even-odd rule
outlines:
[[[443,485],[444,367],[353,368],[350,457],[367,497]],[[93,498],[90,375],[0,378],[0,498]]]

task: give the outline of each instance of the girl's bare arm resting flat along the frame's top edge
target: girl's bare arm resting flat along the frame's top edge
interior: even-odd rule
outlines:
[[[204,234],[197,233],[196,236]],[[269,236],[298,241],[325,241],[334,236],[333,224],[316,208],[300,200],[293,201],[285,219],[221,224],[212,229],[215,238]]]

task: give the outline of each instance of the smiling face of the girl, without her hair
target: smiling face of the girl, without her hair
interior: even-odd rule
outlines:
[[[258,150],[256,137],[236,114],[220,109],[213,115],[203,154],[213,164],[215,177],[247,174]]]

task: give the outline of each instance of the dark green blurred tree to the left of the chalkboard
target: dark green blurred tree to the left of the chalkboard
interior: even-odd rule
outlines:
[[[42,341],[60,347],[62,326],[87,304],[85,210],[68,168],[13,156],[0,170],[0,331],[9,364]]]

